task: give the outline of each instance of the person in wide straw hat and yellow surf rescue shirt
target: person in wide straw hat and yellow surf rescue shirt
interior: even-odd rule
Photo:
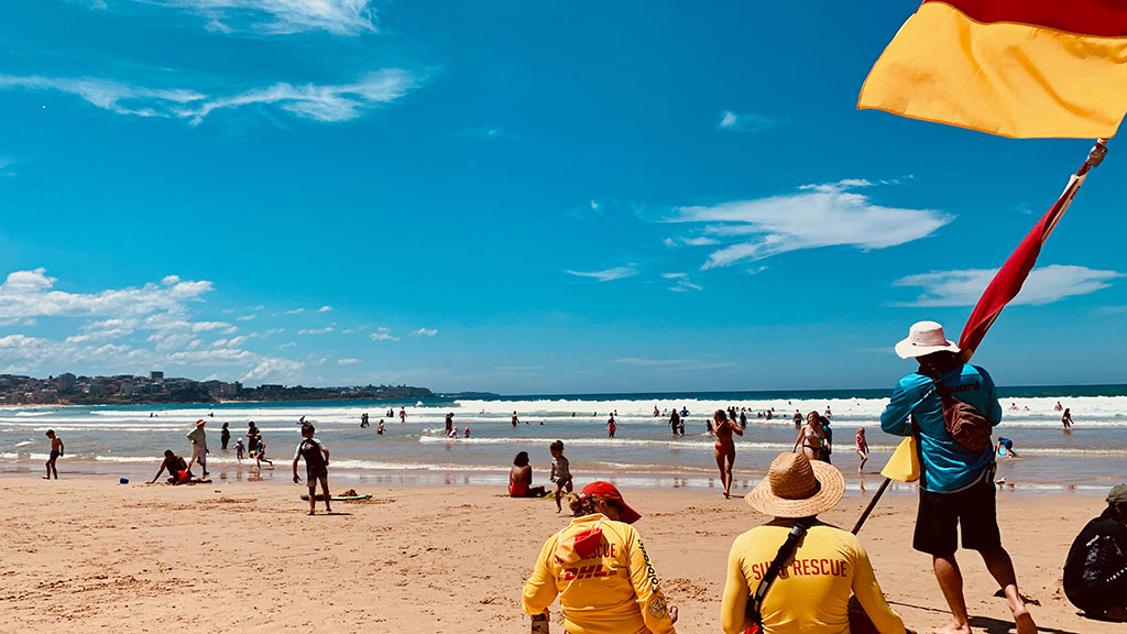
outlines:
[[[749,595],[797,521],[809,528],[763,598],[763,631],[849,634],[852,592],[880,634],[907,632],[885,601],[857,536],[815,518],[836,505],[844,490],[841,472],[804,454],[780,454],[771,463],[767,477],[746,500],[774,519],[737,537],[728,555],[720,613],[726,634],[739,634],[753,625],[746,614]]]

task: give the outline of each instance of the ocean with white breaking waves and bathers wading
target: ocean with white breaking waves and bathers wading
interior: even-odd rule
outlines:
[[[289,482],[298,421],[317,426],[331,451],[335,482],[387,484],[487,484],[504,487],[518,451],[532,459],[536,484],[547,484],[548,446],[562,440],[577,483],[612,478],[630,486],[720,486],[706,421],[717,408],[745,408],[748,425],[736,437],[734,492],[745,491],[765,474],[781,451],[795,446],[791,416],[798,410],[832,411],[834,464],[851,491],[875,487],[879,470],[899,442],[880,431],[888,390],[744,391],[686,394],[609,394],[500,397],[425,402],[290,402],[137,406],[28,406],[0,410],[0,474],[39,474],[53,429],[65,442],[60,473],[91,476],[152,477],[166,449],[190,455],[185,434],[197,419],[207,421],[208,466],[221,479]],[[1127,386],[1070,386],[1000,389],[1005,410],[995,438],[1014,441],[1019,457],[1001,459],[999,477],[1027,491],[1106,492],[1127,479]],[[1072,410],[1074,428],[1064,433],[1061,402]],[[400,423],[400,407],[407,413]],[[659,415],[654,416],[657,407]],[[669,410],[682,408],[685,435],[673,437]],[[393,416],[388,411],[393,410]],[[757,417],[773,410],[774,419]],[[371,428],[360,426],[369,413]],[[511,424],[513,412],[520,424]],[[606,435],[609,414],[618,412],[616,437]],[[459,430],[471,437],[447,439],[444,419],[454,414]],[[384,420],[385,432],[376,434]],[[239,463],[234,440],[254,421],[268,444],[275,469],[256,472],[254,460]],[[220,426],[230,423],[230,449],[220,448]],[[872,451],[866,474],[858,475],[854,434],[866,428]],[[198,468],[196,469],[198,472]],[[301,469],[303,473],[303,469]],[[909,485],[894,488],[911,490]]]

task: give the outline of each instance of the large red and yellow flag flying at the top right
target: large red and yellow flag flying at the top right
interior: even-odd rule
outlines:
[[[925,0],[859,108],[1014,138],[1110,138],[1127,112],[1127,2]]]

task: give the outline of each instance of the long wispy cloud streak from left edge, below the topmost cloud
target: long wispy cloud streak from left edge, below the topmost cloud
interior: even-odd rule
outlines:
[[[247,106],[276,108],[322,123],[350,121],[418,86],[419,79],[402,69],[370,72],[352,83],[278,82],[231,95],[192,88],[149,88],[100,78],[0,74],[0,89],[54,90],[117,114],[179,118],[190,125],[198,125],[213,112]]]

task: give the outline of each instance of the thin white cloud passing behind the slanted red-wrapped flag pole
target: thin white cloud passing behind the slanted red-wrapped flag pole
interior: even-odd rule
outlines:
[[[900,278],[893,285],[923,289],[915,300],[899,306],[974,306],[996,272],[994,268],[934,271]],[[1110,287],[1111,280],[1121,276],[1116,271],[1097,271],[1084,266],[1054,264],[1033,268],[1012,305],[1040,306],[1066,297],[1093,293]]]

